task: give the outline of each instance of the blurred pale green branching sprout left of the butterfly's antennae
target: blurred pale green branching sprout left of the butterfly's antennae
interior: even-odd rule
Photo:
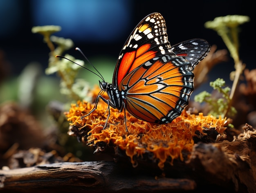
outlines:
[[[56,73],[61,77],[60,92],[68,96],[73,100],[90,100],[88,99],[89,85],[83,79],[76,79],[79,72],[80,66],[84,66],[84,61],[76,60],[73,56],[68,54],[65,55],[66,58],[78,63],[75,65],[71,61],[63,58],[56,58],[56,55],[62,55],[65,51],[72,48],[74,43],[71,39],[65,39],[52,34],[61,31],[60,26],[47,25],[47,26],[36,26],[32,27],[32,33],[42,34],[45,43],[50,49],[49,54],[49,65],[45,70],[45,74]],[[56,45],[56,47],[54,46]]]

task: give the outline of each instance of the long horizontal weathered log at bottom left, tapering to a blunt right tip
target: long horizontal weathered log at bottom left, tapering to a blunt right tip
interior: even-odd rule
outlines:
[[[0,191],[40,192],[165,192],[193,190],[195,182],[123,173],[115,162],[63,162],[0,171]]]

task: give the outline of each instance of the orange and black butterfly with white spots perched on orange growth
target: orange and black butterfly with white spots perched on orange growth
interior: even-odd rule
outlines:
[[[107,121],[111,106],[147,122],[171,123],[188,105],[193,92],[193,69],[209,50],[209,43],[203,39],[171,47],[164,18],[160,13],[151,13],[139,22],[121,49],[112,84],[99,76],[101,92],[89,114],[101,98],[108,104]],[[108,93],[109,99],[103,98],[103,92]],[[124,120],[126,123],[126,117]]]

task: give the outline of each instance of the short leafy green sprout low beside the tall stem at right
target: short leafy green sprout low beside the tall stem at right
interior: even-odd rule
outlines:
[[[225,87],[225,81],[223,79],[216,79],[213,82],[210,82],[210,86],[217,90],[219,94],[222,94],[222,98],[213,97],[213,94],[203,91],[195,96],[195,101],[199,103],[206,102],[210,105],[211,110],[209,114],[215,117],[225,117],[225,112],[229,109],[229,104],[231,103],[231,99],[229,98],[230,88]],[[236,114],[236,109],[231,106],[230,111],[228,112],[228,116],[232,117]]]

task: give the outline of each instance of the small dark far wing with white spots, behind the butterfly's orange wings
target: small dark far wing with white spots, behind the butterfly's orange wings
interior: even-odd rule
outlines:
[[[191,63],[192,70],[209,53],[211,47],[204,39],[191,39],[171,46],[171,50],[177,56],[183,56]]]

